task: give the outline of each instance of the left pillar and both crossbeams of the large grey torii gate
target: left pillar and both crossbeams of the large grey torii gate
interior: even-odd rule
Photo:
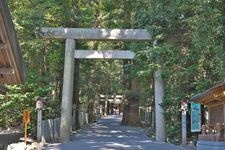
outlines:
[[[37,29],[37,34],[49,39],[66,39],[61,106],[60,141],[70,141],[72,127],[72,92],[74,78],[74,59],[81,58],[116,58],[132,59],[131,51],[88,51],[75,50],[75,40],[114,40],[148,41],[151,39],[146,29],[88,29],[88,28],[48,28]]]

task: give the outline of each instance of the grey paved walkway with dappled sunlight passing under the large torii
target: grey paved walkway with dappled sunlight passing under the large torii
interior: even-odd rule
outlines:
[[[151,141],[140,128],[120,126],[121,116],[108,116],[72,136],[69,143],[47,144],[43,150],[181,150]]]

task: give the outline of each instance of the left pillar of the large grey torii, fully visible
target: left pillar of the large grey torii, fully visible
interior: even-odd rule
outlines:
[[[74,78],[75,40],[67,39],[63,75],[63,93],[61,106],[60,142],[70,141],[72,127],[72,95]]]

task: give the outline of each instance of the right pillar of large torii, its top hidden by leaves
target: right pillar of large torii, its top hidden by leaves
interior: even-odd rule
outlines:
[[[160,69],[154,72],[154,78],[155,78],[156,141],[165,142],[166,140],[165,117],[164,117],[164,110],[161,107],[164,97],[164,87]]]

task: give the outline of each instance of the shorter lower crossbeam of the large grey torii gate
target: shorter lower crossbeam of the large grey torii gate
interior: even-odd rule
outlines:
[[[129,50],[75,50],[76,59],[134,59],[135,53]]]

